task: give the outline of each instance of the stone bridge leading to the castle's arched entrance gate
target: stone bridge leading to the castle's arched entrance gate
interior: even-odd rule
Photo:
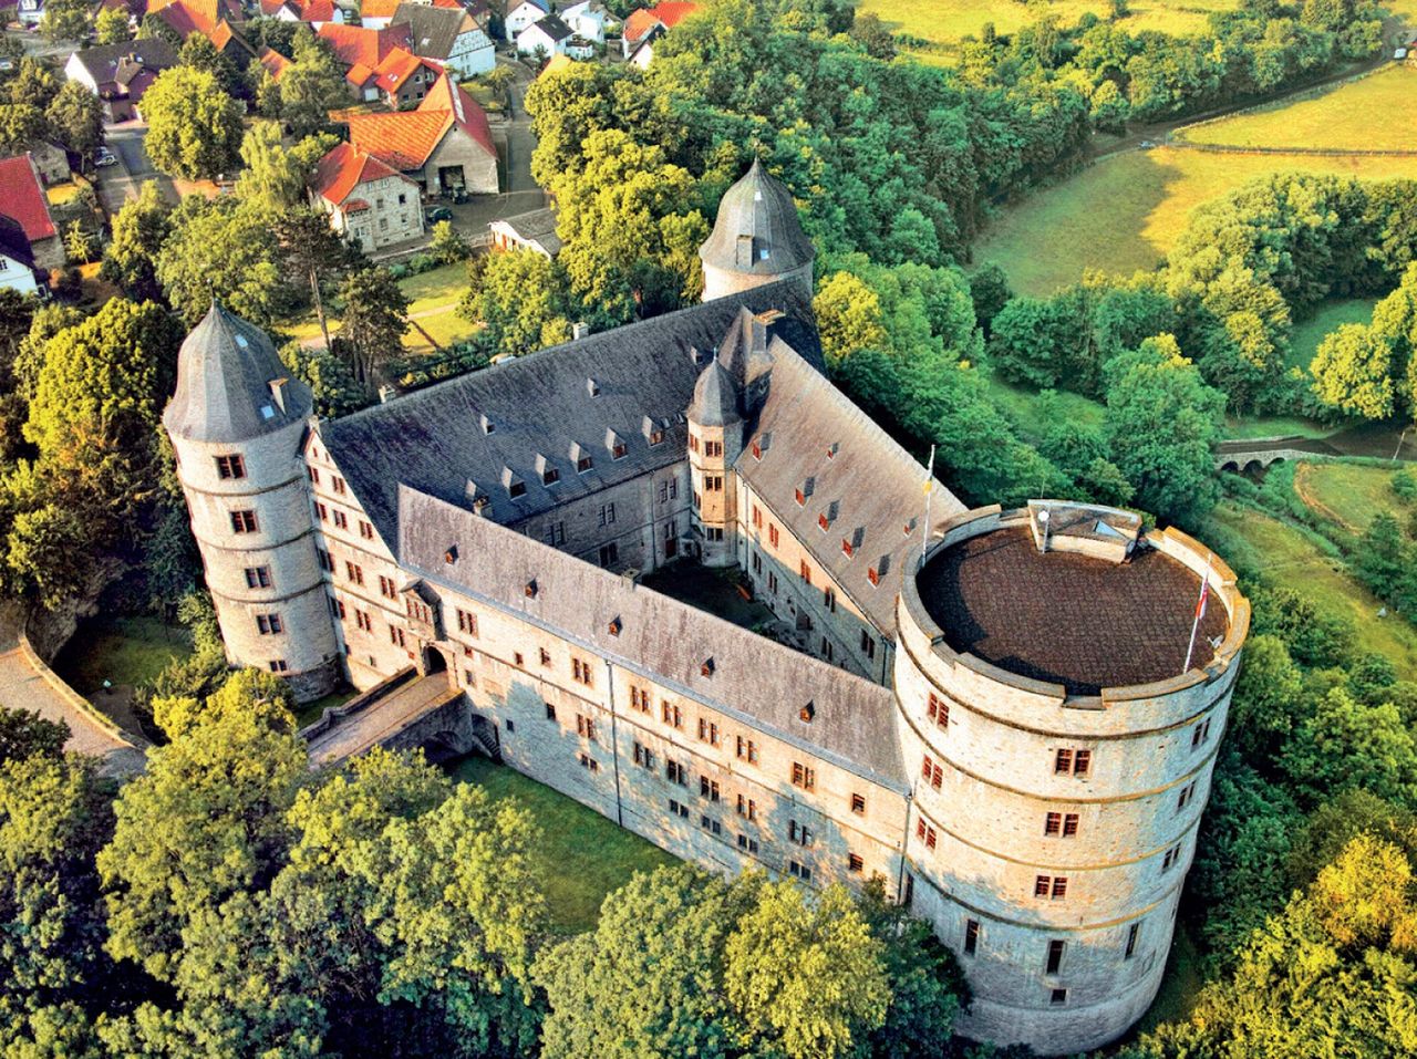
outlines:
[[[310,765],[339,765],[374,746],[421,746],[429,760],[478,752],[499,757],[496,729],[473,709],[446,671],[400,670],[341,706],[329,706],[303,728]]]

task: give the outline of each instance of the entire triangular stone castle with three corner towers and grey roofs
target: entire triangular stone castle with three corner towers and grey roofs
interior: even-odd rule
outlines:
[[[214,306],[164,425],[231,661],[303,701],[445,674],[507,765],[679,857],[883,879],[959,956],[961,1032],[1114,1041],[1166,966],[1234,576],[1124,511],[965,511],[826,379],[760,164],[700,253],[701,304],[336,420]],[[811,654],[636,582],[683,562]]]

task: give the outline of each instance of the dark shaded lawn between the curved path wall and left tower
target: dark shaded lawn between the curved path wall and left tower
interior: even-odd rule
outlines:
[[[79,624],[54,660],[54,671],[77,692],[89,695],[103,687],[146,684],[170,661],[191,653],[183,626],[164,626],[156,617],[94,617]]]

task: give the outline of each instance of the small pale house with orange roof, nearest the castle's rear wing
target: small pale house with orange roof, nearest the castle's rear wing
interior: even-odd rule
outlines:
[[[330,228],[366,252],[424,232],[419,187],[367,151],[340,143],[320,159],[310,198]]]

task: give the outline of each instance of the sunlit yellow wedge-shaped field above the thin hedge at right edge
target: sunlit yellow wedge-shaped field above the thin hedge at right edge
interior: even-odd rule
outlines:
[[[1308,99],[1182,129],[1176,137],[1236,147],[1410,150],[1411,122],[1403,115],[1411,112],[1413,99],[1417,69],[1391,65]]]

